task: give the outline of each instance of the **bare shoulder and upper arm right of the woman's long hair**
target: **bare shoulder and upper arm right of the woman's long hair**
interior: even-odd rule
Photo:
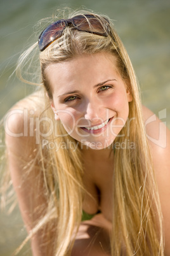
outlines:
[[[162,208],[165,255],[170,255],[170,132],[164,124],[166,111],[160,111],[159,118],[143,106],[143,120],[154,161],[155,177]]]

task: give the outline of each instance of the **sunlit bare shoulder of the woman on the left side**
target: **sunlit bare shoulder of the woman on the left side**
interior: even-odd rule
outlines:
[[[44,109],[42,97],[41,92],[25,97],[4,117],[6,146],[16,155],[29,154],[36,146],[35,120]]]

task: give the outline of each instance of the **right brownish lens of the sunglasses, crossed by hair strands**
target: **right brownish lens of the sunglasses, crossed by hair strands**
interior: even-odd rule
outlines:
[[[107,36],[107,32],[101,25],[100,20],[93,15],[85,15],[85,17],[84,15],[79,15],[73,18],[73,22],[80,31],[93,32],[94,34]]]

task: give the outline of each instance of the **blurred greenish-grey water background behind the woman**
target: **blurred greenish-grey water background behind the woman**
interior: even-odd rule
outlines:
[[[20,53],[29,38],[34,38],[34,25],[50,17],[58,8],[85,7],[115,20],[138,76],[143,104],[170,128],[170,1],[168,0],[0,0],[0,118],[32,88],[20,82],[13,73]],[[33,35],[33,36],[32,36]],[[26,236],[20,212],[0,215],[0,255],[10,256]],[[19,255],[31,255],[27,245]]]

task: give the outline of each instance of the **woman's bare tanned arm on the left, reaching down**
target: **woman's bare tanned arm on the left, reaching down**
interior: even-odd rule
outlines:
[[[18,197],[23,221],[27,231],[30,232],[46,213],[48,206],[47,197],[44,193],[43,175],[39,167],[36,138],[33,136],[15,136],[24,130],[22,114],[11,115],[6,125],[8,125],[6,145],[11,179]],[[39,229],[31,239],[33,255],[53,255],[55,230],[53,223],[48,223]]]

